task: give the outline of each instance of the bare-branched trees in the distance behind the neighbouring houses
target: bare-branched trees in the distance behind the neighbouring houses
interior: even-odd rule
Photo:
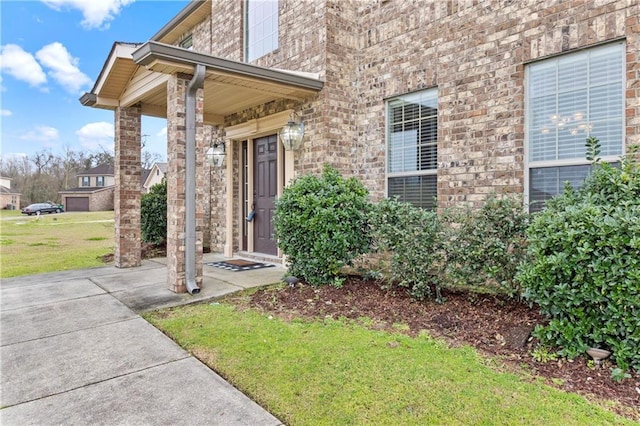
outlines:
[[[158,161],[162,161],[160,154],[142,152],[142,168],[150,169]],[[102,164],[114,164],[111,152],[66,149],[54,154],[42,150],[28,156],[0,158],[0,175],[11,178],[11,191],[21,194],[20,207],[24,207],[47,201],[61,203],[59,191],[77,188],[78,174]]]

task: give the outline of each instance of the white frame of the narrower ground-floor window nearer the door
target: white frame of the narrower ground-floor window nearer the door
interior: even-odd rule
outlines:
[[[397,172],[392,172],[391,169],[391,158],[390,158],[390,149],[391,149],[391,127],[394,123],[390,122],[390,104],[393,101],[396,100],[401,100],[403,98],[409,98],[412,96],[415,96],[417,94],[420,93],[425,93],[425,94],[433,94],[435,95],[435,100],[436,100],[436,105],[437,105],[437,110],[436,110],[436,114],[435,114],[435,118],[436,118],[436,158],[434,161],[434,167],[432,169],[425,169],[425,170],[410,170],[410,171],[397,171]],[[438,88],[437,87],[432,87],[429,89],[425,89],[425,90],[419,90],[416,92],[410,92],[410,93],[405,93],[404,95],[399,95],[399,96],[394,96],[393,98],[389,98],[386,99],[385,101],[385,197],[389,198],[389,180],[392,178],[401,178],[401,177],[420,177],[420,176],[435,176],[436,177],[436,185],[434,188],[434,193],[435,193],[435,199],[434,199],[434,204],[433,204],[433,208],[437,208],[438,207],[438,179],[437,179],[437,174],[438,174],[438,160],[437,160],[437,155],[438,155],[438,142],[439,142],[439,132],[438,132],[438,127],[440,125],[440,119],[439,119],[439,109],[440,109],[440,105],[439,105],[439,92],[438,92]]]

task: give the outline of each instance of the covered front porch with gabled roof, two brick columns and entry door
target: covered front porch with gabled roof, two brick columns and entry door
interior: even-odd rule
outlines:
[[[260,241],[272,239],[269,200],[272,205],[294,177],[295,151],[283,149],[278,132],[322,86],[310,75],[155,41],[115,43],[93,90],[81,102],[114,111],[116,266],[141,264],[143,115],[167,119],[169,288],[199,291],[205,244],[227,257],[241,251],[278,258],[275,241],[268,250]],[[222,168],[214,168],[205,154],[220,138],[226,159]],[[261,200],[267,204],[261,206]],[[257,213],[260,220],[247,222],[254,208],[263,208]]]

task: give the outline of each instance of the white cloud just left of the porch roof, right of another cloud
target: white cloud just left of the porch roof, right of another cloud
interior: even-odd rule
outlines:
[[[36,58],[49,69],[48,74],[71,93],[91,85],[91,79],[78,68],[78,58],[71,56],[61,43],[44,46],[36,53]]]

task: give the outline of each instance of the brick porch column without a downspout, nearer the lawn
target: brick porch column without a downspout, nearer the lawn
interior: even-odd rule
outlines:
[[[140,266],[140,107],[116,108],[115,265]]]

